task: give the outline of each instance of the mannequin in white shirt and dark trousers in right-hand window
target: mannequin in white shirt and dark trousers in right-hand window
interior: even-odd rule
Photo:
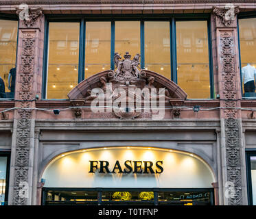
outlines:
[[[256,68],[247,64],[242,68],[242,81],[244,81],[244,92],[255,92]]]

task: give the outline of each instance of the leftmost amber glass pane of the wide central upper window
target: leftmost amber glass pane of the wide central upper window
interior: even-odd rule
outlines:
[[[49,23],[47,99],[67,99],[78,83],[79,23]]]

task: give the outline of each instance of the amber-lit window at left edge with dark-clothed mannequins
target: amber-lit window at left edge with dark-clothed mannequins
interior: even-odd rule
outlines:
[[[14,98],[18,21],[0,20],[0,98]]]

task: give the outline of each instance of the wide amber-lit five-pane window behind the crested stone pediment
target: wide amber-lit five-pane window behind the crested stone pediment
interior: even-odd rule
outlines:
[[[114,54],[141,55],[141,69],[178,83],[188,99],[211,99],[208,21],[49,22],[43,98],[67,99],[83,79],[115,70]],[[210,54],[211,55],[211,54]],[[172,60],[172,61],[171,61]],[[47,62],[47,61],[45,61]]]

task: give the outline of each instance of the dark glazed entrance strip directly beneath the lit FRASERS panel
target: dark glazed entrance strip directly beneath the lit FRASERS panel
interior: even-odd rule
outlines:
[[[213,189],[43,188],[43,205],[214,205]]]

